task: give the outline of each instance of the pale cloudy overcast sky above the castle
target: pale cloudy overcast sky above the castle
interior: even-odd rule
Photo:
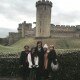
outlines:
[[[17,32],[18,24],[36,21],[38,0],[0,0],[0,37]],[[51,23],[80,25],[80,0],[50,0],[53,3]],[[34,27],[35,25],[33,25]]]

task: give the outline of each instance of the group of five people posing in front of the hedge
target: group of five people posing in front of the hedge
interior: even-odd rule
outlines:
[[[20,55],[20,73],[23,80],[48,80],[54,78],[51,64],[57,64],[57,56],[54,46],[38,41],[36,47],[24,46]],[[53,74],[53,75],[51,75]],[[54,79],[52,79],[54,80]]]

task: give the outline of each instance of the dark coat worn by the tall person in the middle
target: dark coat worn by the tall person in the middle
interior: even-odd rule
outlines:
[[[39,68],[43,69],[44,65],[44,49],[41,47],[41,50],[38,50],[38,47],[35,48],[35,51],[39,57]]]

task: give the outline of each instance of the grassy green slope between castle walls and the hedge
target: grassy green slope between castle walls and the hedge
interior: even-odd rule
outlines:
[[[3,53],[15,53],[23,50],[24,45],[29,45],[30,47],[36,46],[36,42],[40,39],[25,38],[17,41],[11,46],[0,45],[0,52]],[[73,51],[80,49],[80,39],[71,38],[54,38],[54,39],[42,39],[43,45],[47,43],[48,45],[53,44],[57,52]]]

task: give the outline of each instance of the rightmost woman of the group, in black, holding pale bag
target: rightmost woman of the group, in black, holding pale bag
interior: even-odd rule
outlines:
[[[48,54],[48,71],[49,71],[49,77],[52,77],[52,80],[56,78],[56,71],[52,70],[52,63],[54,65],[57,65],[57,55],[54,50],[54,46],[50,45],[50,52]]]

